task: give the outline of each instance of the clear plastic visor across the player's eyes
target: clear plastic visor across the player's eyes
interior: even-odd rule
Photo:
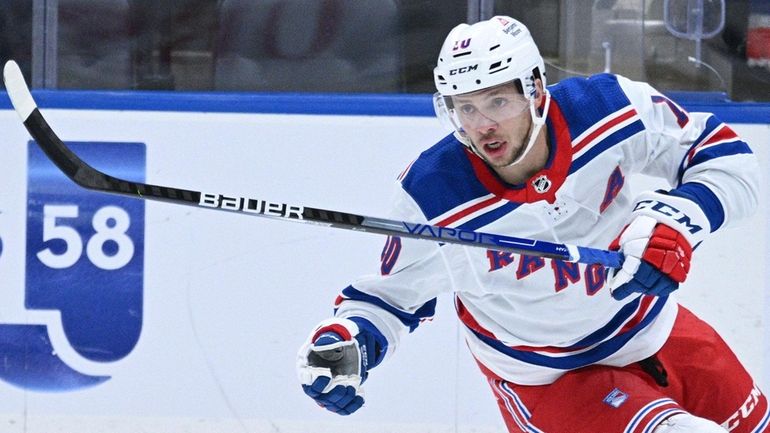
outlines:
[[[529,107],[529,99],[519,91],[514,82],[448,96],[444,103],[448,120],[463,135],[468,130],[483,129],[512,120]]]

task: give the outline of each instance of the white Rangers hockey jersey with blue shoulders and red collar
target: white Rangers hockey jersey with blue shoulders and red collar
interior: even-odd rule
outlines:
[[[713,115],[687,113],[649,85],[609,74],[549,91],[550,156],[527,184],[504,183],[450,135],[399,176],[391,217],[605,249],[628,223],[627,180],[636,173],[695,185],[712,232],[754,211],[758,163]],[[337,316],[371,321],[389,355],[433,315],[436,296],[452,292],[473,356],[518,384],[649,357],[677,312],[671,297],[613,299],[600,265],[397,237],[381,258],[378,275],[342,291]]]

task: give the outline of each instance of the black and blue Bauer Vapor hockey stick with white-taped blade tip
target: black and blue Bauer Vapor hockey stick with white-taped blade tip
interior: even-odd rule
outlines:
[[[11,102],[32,138],[35,139],[48,158],[67,177],[86,189],[146,200],[239,212],[253,216],[318,224],[367,233],[484,247],[568,262],[601,264],[610,268],[618,268],[623,262],[622,254],[614,251],[515,238],[459,228],[373,218],[250,197],[191,191],[118,179],[102,173],[85,163],[67,148],[56,133],[53,132],[48,122],[40,114],[40,110],[38,110],[16,62],[8,61],[5,64],[3,79]]]

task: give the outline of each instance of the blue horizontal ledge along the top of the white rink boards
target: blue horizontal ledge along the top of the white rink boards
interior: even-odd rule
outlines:
[[[433,116],[428,94],[225,93],[34,90],[41,108],[214,113]],[[666,92],[688,111],[707,111],[729,123],[770,123],[770,102],[733,102],[721,92]],[[11,108],[0,92],[0,109]]]

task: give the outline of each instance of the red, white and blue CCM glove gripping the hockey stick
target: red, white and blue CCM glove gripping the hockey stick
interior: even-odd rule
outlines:
[[[710,233],[708,218],[691,200],[646,192],[630,221],[610,245],[625,256],[623,267],[609,274],[610,293],[615,299],[635,292],[666,296],[687,278],[693,247]]]

